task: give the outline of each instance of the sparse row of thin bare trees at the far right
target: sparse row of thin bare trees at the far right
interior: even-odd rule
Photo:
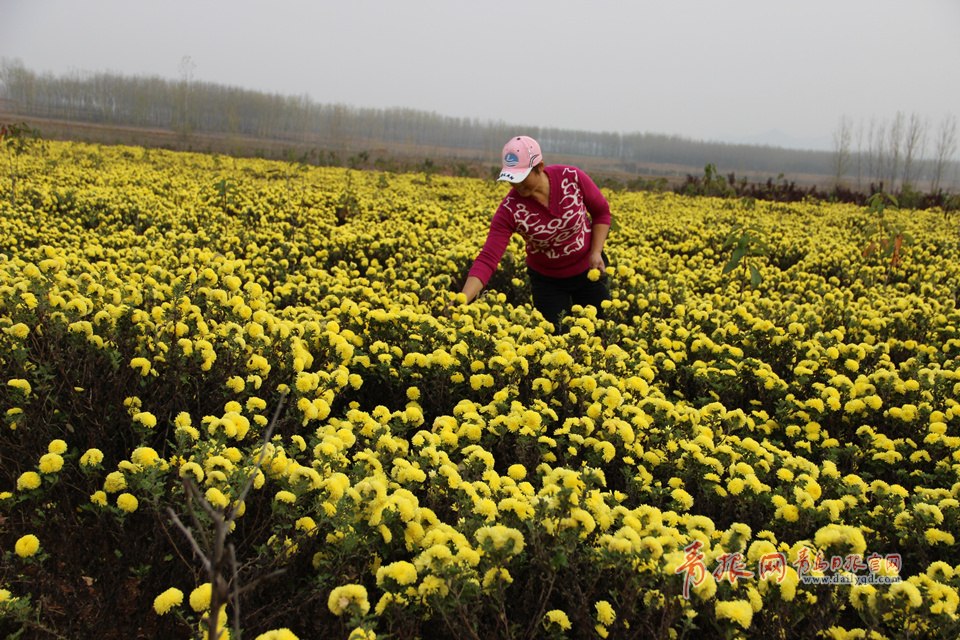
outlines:
[[[956,152],[957,117],[951,113],[935,128],[918,113],[908,117],[897,111],[890,120],[871,118],[856,126],[843,115],[833,132],[834,178],[839,183],[855,172],[858,189],[864,182],[882,182],[891,191],[898,184],[922,188],[925,179],[936,192],[955,181]]]

